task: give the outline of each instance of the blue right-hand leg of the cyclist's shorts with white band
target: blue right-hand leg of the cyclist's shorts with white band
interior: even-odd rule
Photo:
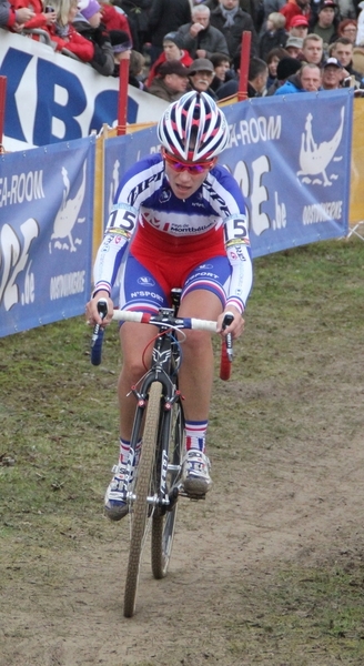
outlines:
[[[194,292],[203,291],[206,296],[210,293],[219,299],[219,314],[225,307],[230,278],[231,266],[228,256],[213,256],[211,260],[204,261],[186,276],[182,290],[181,306],[188,296],[190,297]],[[209,303],[212,304],[214,300],[209,299]],[[200,311],[199,316],[208,319],[204,307]]]

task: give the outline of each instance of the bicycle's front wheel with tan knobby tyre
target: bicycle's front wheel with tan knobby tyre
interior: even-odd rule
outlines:
[[[153,382],[149,393],[143,444],[134,485],[135,501],[132,507],[131,543],[124,593],[125,617],[132,617],[135,612],[142,548],[148,533],[149,504],[146,498],[152,494],[152,470],[155,458],[161,395],[162,384]]]

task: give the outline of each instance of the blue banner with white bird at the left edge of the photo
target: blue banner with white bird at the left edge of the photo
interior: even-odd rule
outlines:
[[[94,143],[0,157],[0,336],[84,311]]]

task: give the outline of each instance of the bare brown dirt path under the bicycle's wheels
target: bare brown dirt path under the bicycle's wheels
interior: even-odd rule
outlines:
[[[283,663],[273,654],[259,662],[234,656],[229,617],[236,622],[239,608],[241,622],[254,622],[255,595],[284,563],[312,566],[360,547],[363,464],[363,440],[343,443],[331,428],[325,442],[304,448],[291,442],[280,460],[274,446],[261,450],[246,464],[243,482],[232,464],[232,487],[241,492],[225,488],[215,506],[223,491],[218,480],[202,508],[184,503],[171,573],[155,582],[145,564],[131,620],[122,618],[125,546],[119,554],[121,539],[112,541],[127,526],[104,522],[104,543],[69,552],[61,583],[34,572],[33,579],[7,586],[1,666]],[[50,569],[55,562],[57,554]],[[250,598],[242,598],[242,584],[252,591]]]

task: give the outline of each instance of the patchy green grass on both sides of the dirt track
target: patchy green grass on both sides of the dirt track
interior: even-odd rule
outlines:
[[[313,476],[318,475],[322,497],[330,498],[334,507],[335,496],[325,485],[330,478],[324,467],[320,476],[320,465],[326,461],[327,470],[327,461],[333,458],[334,471],[336,456],[340,490],[338,465],[347,462],[346,445],[350,451],[351,443],[364,443],[363,331],[362,241],[322,242],[255,261],[246,332],[235,344],[233,376],[225,384],[218,379],[215,341],[216,380],[209,452],[218,488],[228,488],[230,483],[223,472],[228,455],[234,483],[237,484],[239,474],[249,471],[243,492],[245,488],[247,496],[249,491],[246,505],[251,512],[254,505],[263,506],[262,484],[273,491],[279,484],[286,493],[290,509],[290,493],[294,497],[297,490],[291,476],[289,481],[289,465],[291,474],[296,464],[304,492],[302,463],[306,466],[307,488]],[[97,553],[114,538],[102,518],[102,495],[118,451],[115,387],[121,357],[117,332],[108,330],[103,363],[98,369],[90,365],[89,344],[90,329],[82,317],[0,340],[3,618],[12,597],[26,589],[30,579],[40,591],[40,598],[41,591],[47,589],[47,613],[51,617],[52,589],[65,581],[68,562],[84,549]],[[178,649],[180,627],[175,627],[175,653],[172,647],[169,653],[161,644],[153,658],[140,656],[138,660],[135,653],[133,659],[120,664],[362,666],[363,519],[360,524],[356,521],[358,500],[364,498],[364,478],[361,483],[357,466],[355,472],[353,483],[343,473],[343,496],[347,496],[347,506],[355,506],[358,513],[350,513],[346,522],[338,525],[341,532],[332,547],[330,539],[326,543],[322,537],[310,556],[304,557],[300,551],[297,557],[289,549],[277,556],[275,545],[271,562],[264,563],[264,572],[263,564],[254,568],[253,546],[247,548],[246,561],[241,548],[239,556],[247,563],[250,576],[236,579],[232,588],[236,606],[224,598],[225,613],[216,636],[213,610],[211,623],[204,618],[210,627],[209,658],[203,660],[198,647],[183,656],[182,647]],[[325,509],[324,500],[318,500],[317,521]],[[313,519],[313,496],[310,506]],[[209,521],[214,519],[212,508],[205,508],[206,529]],[[226,521],[232,519],[231,513],[219,515],[222,522],[224,515]],[[186,531],[188,516],[181,523]],[[280,519],[272,516],[276,519],[275,532],[280,533]],[[259,517],[254,521],[257,525]],[[330,535],[328,518],[326,525]],[[286,531],[285,524],[282,544],[286,543]],[[314,529],[312,534],[314,539]],[[244,613],[239,598],[245,599]],[[32,613],[31,604],[28,613]],[[182,626],[191,623],[190,614],[188,605],[184,614],[180,606]],[[1,623],[1,666],[119,664],[112,657],[110,662],[97,657],[94,662],[91,657],[84,662],[81,657],[74,662],[67,657],[47,662],[46,657],[38,658],[36,652],[28,657],[27,632],[17,617],[14,612],[11,626]],[[95,635],[97,630],[94,627]],[[19,645],[23,646],[22,652]]]

